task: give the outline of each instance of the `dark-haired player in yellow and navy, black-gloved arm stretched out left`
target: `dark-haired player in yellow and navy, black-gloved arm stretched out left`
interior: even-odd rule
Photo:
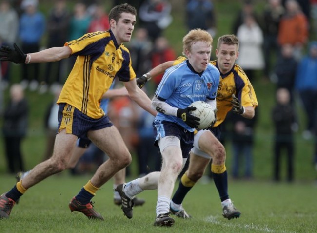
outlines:
[[[151,100],[137,86],[129,51],[122,44],[131,39],[136,14],[136,9],[127,3],[117,5],[109,12],[109,31],[85,34],[63,47],[29,54],[24,54],[16,44],[14,48],[0,48],[0,60],[15,63],[55,62],[77,56],[57,102],[59,129],[53,155],[0,196],[0,218],[9,217],[16,201],[29,188],[66,169],[77,139],[87,136],[109,159],[99,166],[94,176],[71,199],[69,208],[71,212],[82,212],[90,219],[103,220],[102,215],[94,210],[91,199],[115,173],[131,163],[131,154],[118,129],[100,108],[102,95],[118,77],[132,100],[153,115],[157,113],[151,108]]]

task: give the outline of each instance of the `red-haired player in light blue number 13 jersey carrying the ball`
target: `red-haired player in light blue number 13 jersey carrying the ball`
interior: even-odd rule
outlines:
[[[175,180],[185,164],[194,142],[197,118],[190,115],[191,103],[201,100],[216,107],[219,71],[209,64],[212,37],[201,29],[191,30],[183,38],[183,53],[188,58],[167,69],[152,99],[152,107],[159,113],[154,121],[155,144],[163,158],[160,172],[122,184],[124,196],[149,189],[158,189],[155,226],[173,226],[169,216],[170,198]],[[146,78],[146,77],[145,77]],[[122,205],[123,207],[123,205]],[[122,208],[132,217],[132,207]]]

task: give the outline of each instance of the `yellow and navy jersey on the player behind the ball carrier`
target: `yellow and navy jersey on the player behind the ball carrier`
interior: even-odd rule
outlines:
[[[187,58],[178,57],[174,61],[173,65],[179,64],[185,61]],[[213,64],[219,70],[217,60],[210,61],[210,64]],[[232,109],[232,94],[241,101],[242,106],[258,106],[258,100],[256,93],[251,85],[248,77],[242,70],[240,66],[235,64],[232,69],[226,74],[220,72],[220,81],[217,91],[217,122],[214,127],[220,125],[226,118],[228,112]]]

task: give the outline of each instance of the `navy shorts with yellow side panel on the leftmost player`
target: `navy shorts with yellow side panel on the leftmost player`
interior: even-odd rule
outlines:
[[[65,129],[68,134],[73,134],[79,138],[83,137],[86,139],[88,139],[87,132],[90,130],[98,130],[113,126],[107,116],[94,119],[83,114],[74,106],[66,103],[59,104],[58,120],[58,132]]]

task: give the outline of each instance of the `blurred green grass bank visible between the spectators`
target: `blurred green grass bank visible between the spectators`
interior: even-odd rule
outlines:
[[[76,1],[68,0],[69,9],[72,9]],[[127,1],[129,2],[129,1]],[[176,50],[177,55],[181,55],[182,38],[186,34],[186,27],[184,24],[184,6],[185,0],[172,0],[172,16],[173,21],[170,26],[164,31],[164,36],[169,40],[169,43]],[[214,37],[213,51],[217,47],[218,37],[224,34],[232,33],[232,24],[238,10],[241,8],[241,0],[214,0],[216,8],[217,19],[217,34]],[[266,0],[255,0],[255,7],[257,12],[263,11],[263,6]],[[53,3],[49,0],[40,0],[39,9],[45,15],[48,14]],[[107,11],[112,7],[112,1],[105,1]],[[137,22],[138,27],[138,22]],[[42,45],[46,44],[46,37],[42,40]],[[275,58],[272,58],[275,59]],[[44,64],[41,64],[41,74],[44,74]],[[13,83],[20,82],[21,67],[19,64],[13,64],[13,72],[11,81]],[[255,129],[255,147],[254,147],[254,177],[258,180],[268,180],[273,177],[273,125],[271,120],[271,109],[275,104],[275,84],[265,82],[262,74],[254,79],[253,86],[258,98],[258,123]],[[26,96],[30,104],[30,120],[28,136],[23,141],[23,155],[25,159],[26,169],[32,169],[42,159],[45,151],[45,131],[44,131],[44,113],[46,107],[53,100],[53,95],[50,93],[38,94],[37,92],[26,91]],[[8,89],[4,92],[5,103],[8,99]],[[302,138],[302,131],[304,130],[306,118],[303,113],[303,107],[296,98],[296,109],[299,117],[299,130],[295,134],[295,180],[297,181],[313,181],[317,178],[316,171],[313,166],[313,149],[314,140],[305,140]],[[0,118],[0,127],[2,128],[3,121]],[[0,174],[5,173],[6,161],[4,155],[4,146],[2,135],[0,134]],[[231,144],[225,143],[227,151],[226,166],[231,169]],[[133,155],[135,157],[135,155]],[[132,175],[136,176],[136,163],[134,159],[131,166]],[[282,179],[286,173],[286,162],[283,159]]]

